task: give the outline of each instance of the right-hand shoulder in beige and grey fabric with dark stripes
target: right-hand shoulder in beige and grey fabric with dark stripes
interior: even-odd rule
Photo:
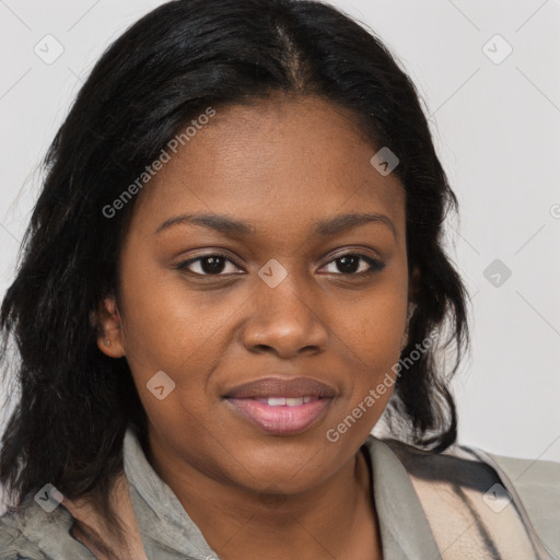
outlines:
[[[447,546],[445,536],[456,535],[453,547],[458,558],[481,547],[474,528],[485,535],[489,553],[503,550],[505,557],[517,558],[526,550],[523,558],[535,558],[534,551],[545,558],[551,552],[560,556],[559,463],[458,444],[432,453],[382,441],[407,470],[439,542]]]

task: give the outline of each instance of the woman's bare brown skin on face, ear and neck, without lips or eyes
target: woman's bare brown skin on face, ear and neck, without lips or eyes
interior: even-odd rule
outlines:
[[[148,458],[220,558],[381,558],[359,448],[392,389],[336,443],[325,435],[390,372],[406,341],[405,195],[395,174],[372,167],[376,151],[345,109],[276,95],[217,110],[137,200],[121,299],[104,302],[98,346],[126,355],[149,418]],[[155,233],[194,212],[254,232],[178,223]],[[349,212],[384,214],[394,231],[369,222],[314,233],[314,221]],[[233,261],[214,275],[203,260],[176,268],[217,250]],[[345,275],[337,259],[357,250],[385,267]],[[288,272],[276,288],[258,276],[271,258]],[[358,260],[358,272],[369,268]],[[175,383],[163,400],[147,388],[159,371]],[[272,374],[314,377],[337,397],[303,433],[270,435],[222,396]]]

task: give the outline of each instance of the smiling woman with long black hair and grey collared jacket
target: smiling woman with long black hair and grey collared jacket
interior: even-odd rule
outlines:
[[[558,465],[455,443],[456,199],[369,31],[315,1],[164,4],[46,166],[2,304],[0,558],[558,555]]]

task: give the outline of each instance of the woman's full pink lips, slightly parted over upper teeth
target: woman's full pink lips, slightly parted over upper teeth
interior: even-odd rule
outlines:
[[[224,395],[233,411],[272,435],[299,434],[327,412],[337,392],[311,377],[266,377]]]

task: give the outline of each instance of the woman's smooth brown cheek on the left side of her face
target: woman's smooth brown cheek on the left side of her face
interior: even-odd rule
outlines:
[[[126,355],[158,430],[171,433],[183,424],[182,432],[200,433],[199,419],[208,416],[206,381],[231,343],[226,326],[243,303],[237,300],[189,290],[179,273],[148,261],[141,250],[124,255]]]

